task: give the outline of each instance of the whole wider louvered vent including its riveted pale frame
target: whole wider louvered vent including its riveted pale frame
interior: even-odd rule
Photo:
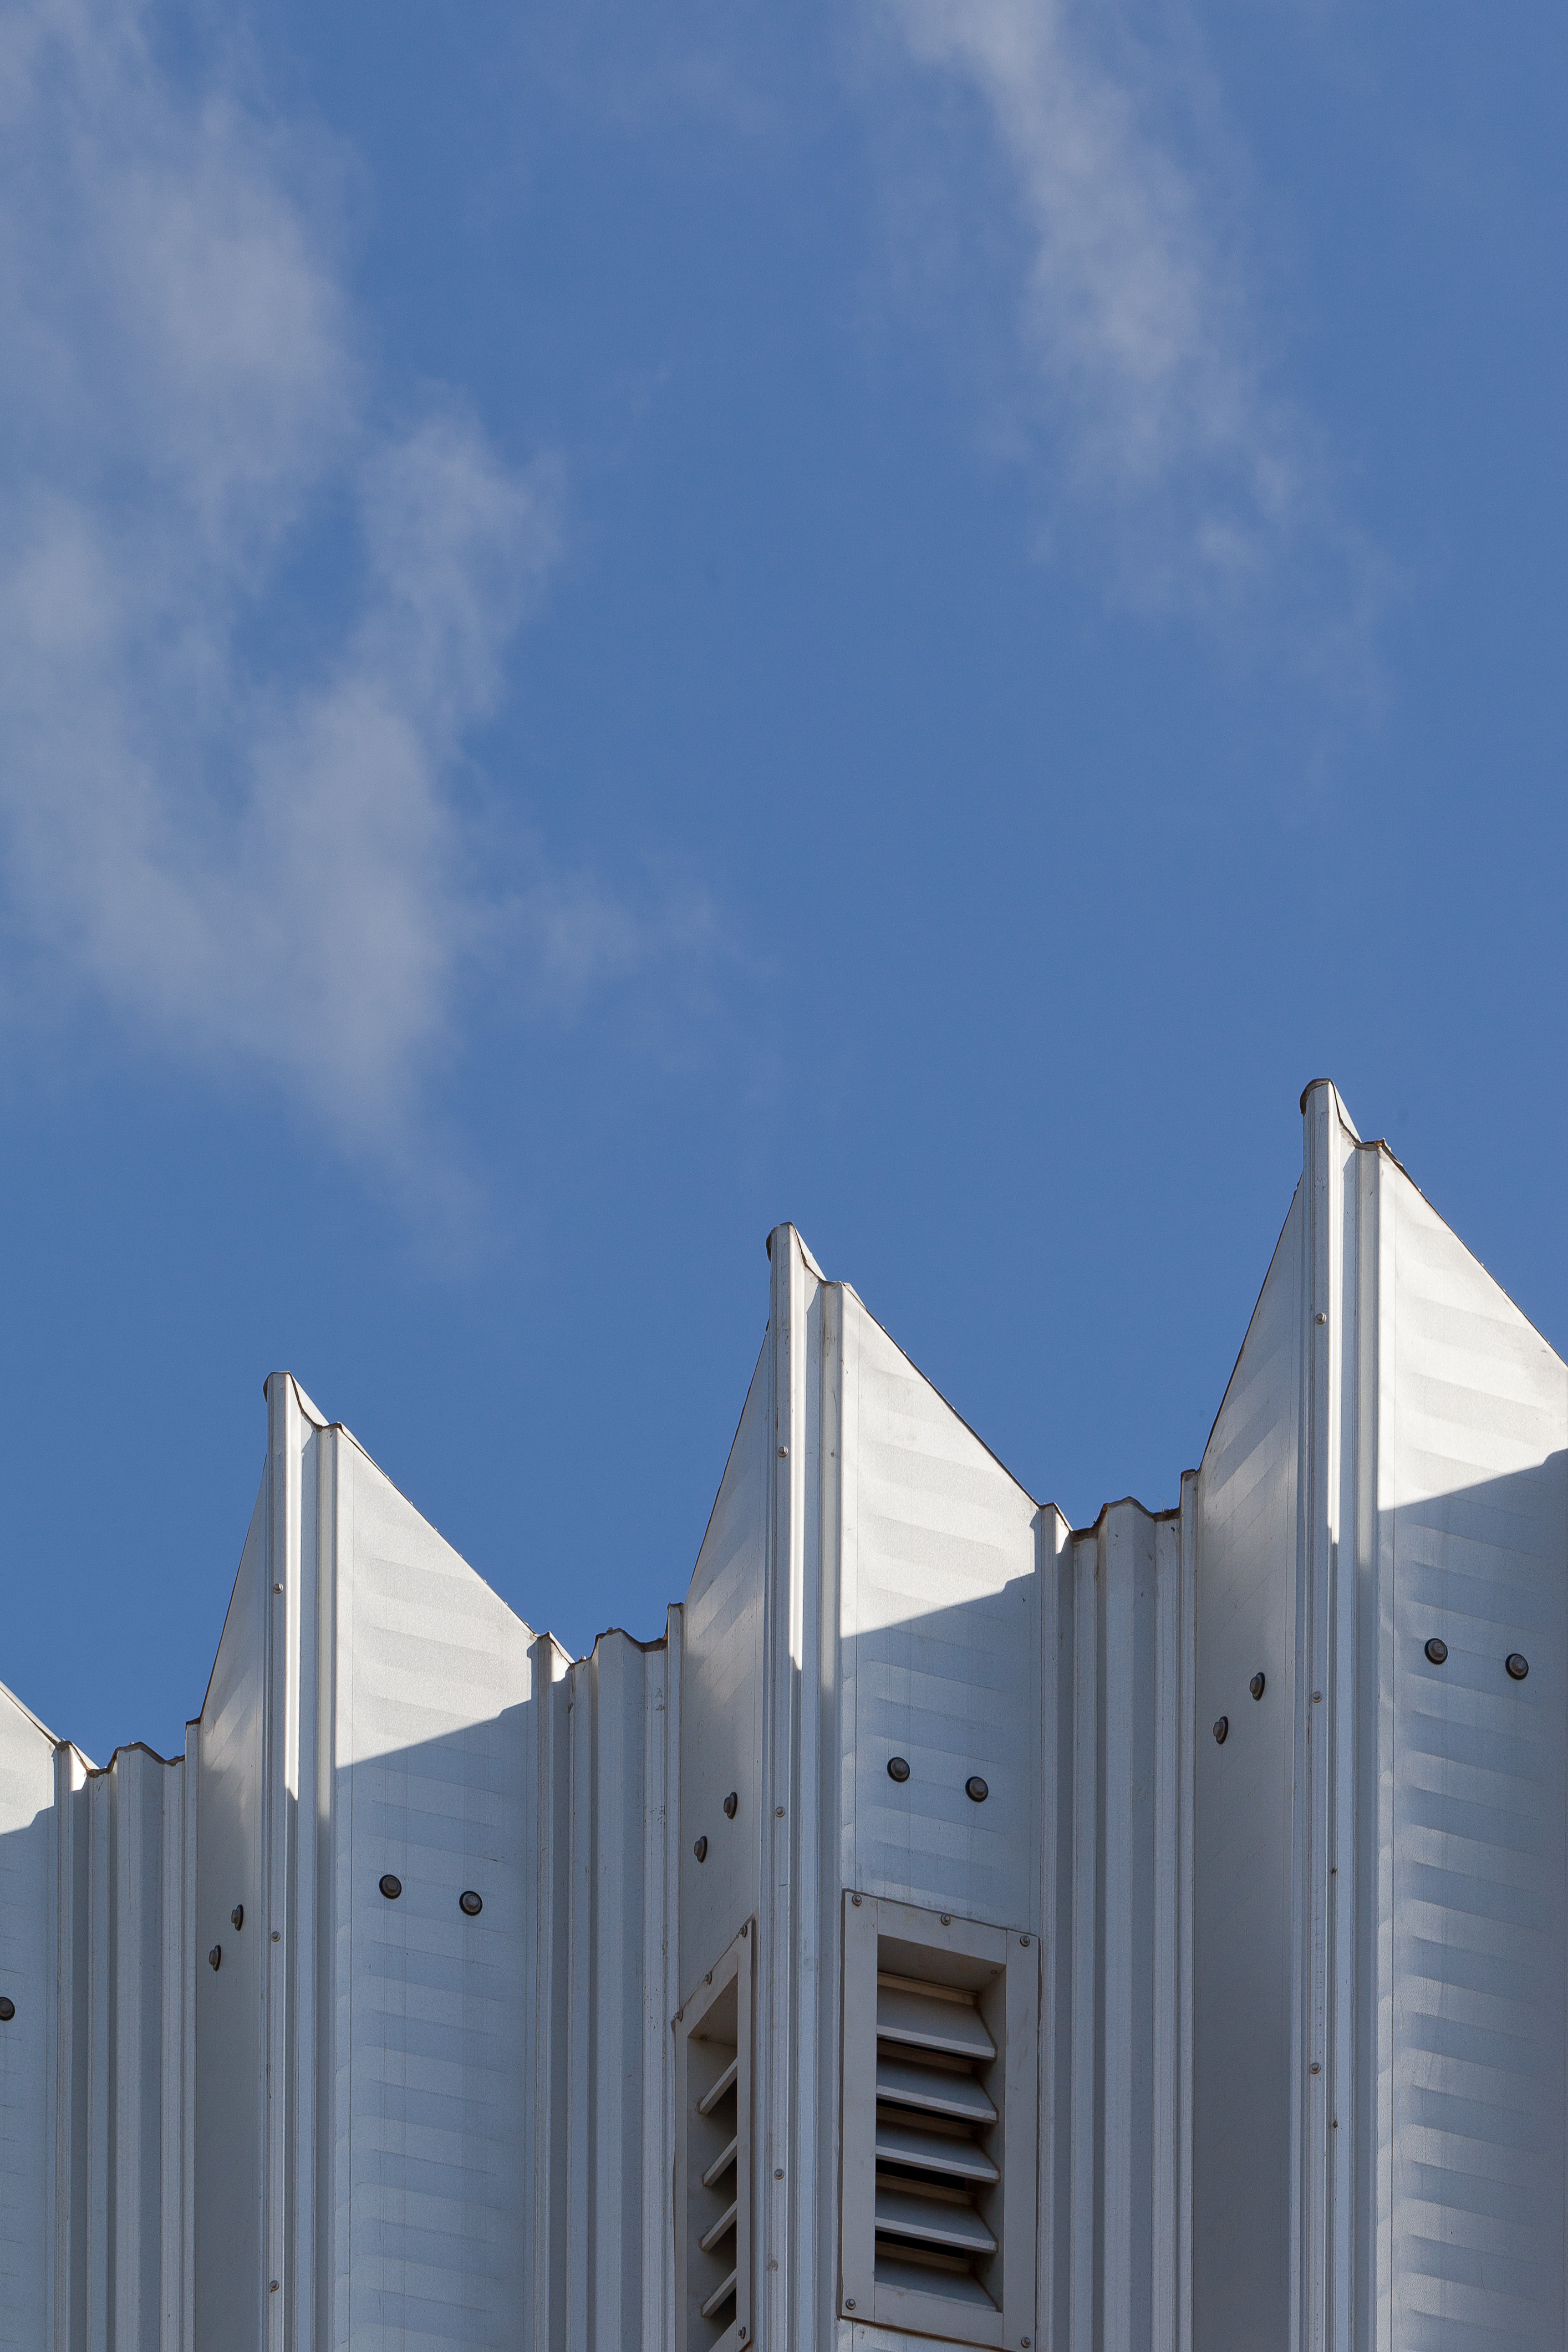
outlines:
[[[846,1898],[846,2319],[1037,2340],[1037,2023],[1027,1931]]]

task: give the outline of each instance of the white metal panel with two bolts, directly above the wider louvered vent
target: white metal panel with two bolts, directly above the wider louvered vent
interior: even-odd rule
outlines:
[[[842,1296],[846,1884],[1039,1926],[1039,1510]]]

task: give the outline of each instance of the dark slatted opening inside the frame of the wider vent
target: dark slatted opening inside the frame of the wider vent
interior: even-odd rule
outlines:
[[[877,1971],[877,2284],[997,2310],[997,2044],[976,1994]]]

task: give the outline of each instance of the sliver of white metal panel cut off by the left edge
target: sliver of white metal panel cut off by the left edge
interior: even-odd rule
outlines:
[[[54,1740],[0,1686],[0,2345],[52,2345],[49,1893]]]

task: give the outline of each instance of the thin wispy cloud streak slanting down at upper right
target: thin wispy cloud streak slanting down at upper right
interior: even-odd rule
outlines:
[[[1234,607],[1295,567],[1298,586],[1328,569],[1328,595],[1359,604],[1371,557],[1269,383],[1227,207],[1161,134],[1150,61],[1126,38],[1107,49],[1112,14],[1086,0],[879,0],[879,14],[907,59],[978,101],[1004,158],[1023,437],[1048,433],[1056,482],[1110,522],[1119,588]]]

